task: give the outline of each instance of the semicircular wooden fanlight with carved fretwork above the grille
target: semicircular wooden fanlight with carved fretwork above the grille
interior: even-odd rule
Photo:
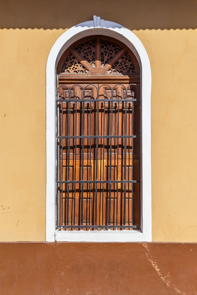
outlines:
[[[59,61],[57,73],[89,76],[138,76],[139,64],[123,43],[105,36],[80,39],[70,46]]]

